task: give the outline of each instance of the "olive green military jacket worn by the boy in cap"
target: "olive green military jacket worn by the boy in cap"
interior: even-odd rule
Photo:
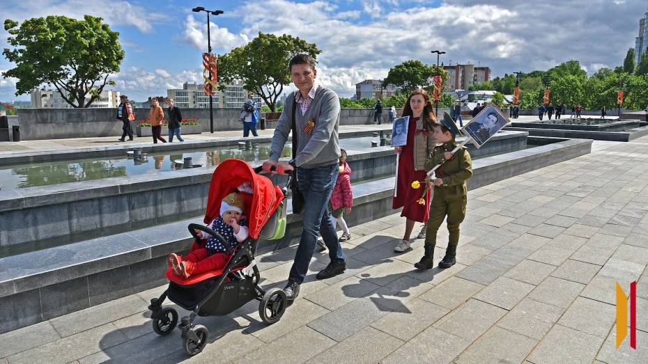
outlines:
[[[465,147],[459,148],[452,158],[446,160],[445,152],[452,152],[456,148],[456,141],[449,141],[435,146],[430,159],[425,162],[425,170],[430,171],[434,166],[443,162],[437,168],[435,175],[443,180],[443,184],[434,187],[440,189],[447,200],[463,198],[468,192],[465,180],[472,177],[472,159]]]

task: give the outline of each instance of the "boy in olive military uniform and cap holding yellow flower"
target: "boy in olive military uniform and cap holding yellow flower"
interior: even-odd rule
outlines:
[[[465,180],[472,176],[472,161],[468,150],[462,146],[456,153],[452,153],[457,146],[455,137],[458,134],[459,128],[448,113],[444,113],[441,122],[434,127],[437,145],[430,159],[425,163],[426,171],[431,171],[434,166],[442,164],[435,171],[434,196],[430,204],[430,219],[427,222],[425,237],[425,255],[414,264],[418,269],[432,268],[436,233],[445,216],[447,216],[449,241],[445,257],[439,262],[439,267],[446,269],[456,263],[459,224],[465,217],[467,191]]]

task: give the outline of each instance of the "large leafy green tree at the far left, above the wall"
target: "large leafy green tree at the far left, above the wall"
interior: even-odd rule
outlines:
[[[114,85],[108,78],[119,72],[124,59],[119,33],[102,24],[100,17],[38,17],[20,26],[6,19],[4,29],[13,49],[5,48],[2,54],[16,67],[2,76],[18,79],[16,96],[47,84],[72,107],[88,107],[106,85]]]

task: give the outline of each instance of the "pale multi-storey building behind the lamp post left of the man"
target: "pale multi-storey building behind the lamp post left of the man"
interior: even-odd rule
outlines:
[[[233,84],[225,86],[224,91],[217,91],[216,95],[212,97],[214,107],[241,107],[247,102],[247,95],[249,91],[243,88],[242,81],[235,81]],[[203,84],[190,84],[185,82],[183,88],[167,90],[167,97],[173,99],[176,106],[179,108],[187,107],[209,107],[209,96],[205,95],[205,88]],[[263,99],[258,95],[254,95],[254,102],[261,102]]]

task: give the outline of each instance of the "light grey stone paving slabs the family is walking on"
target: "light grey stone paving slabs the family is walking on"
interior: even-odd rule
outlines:
[[[590,155],[470,191],[445,271],[412,267],[422,239],[394,253],[398,215],[355,226],[344,274],[316,280],[327,262],[316,254],[271,326],[256,301],[196,319],[210,344],[191,358],[179,330],[153,333],[158,287],[4,333],[0,363],[646,363],[647,156],[648,137],[595,141]],[[442,228],[435,262],[446,244]],[[264,287],[283,287],[294,253],[257,258]],[[627,294],[634,280],[638,349],[615,349],[615,282]]]

